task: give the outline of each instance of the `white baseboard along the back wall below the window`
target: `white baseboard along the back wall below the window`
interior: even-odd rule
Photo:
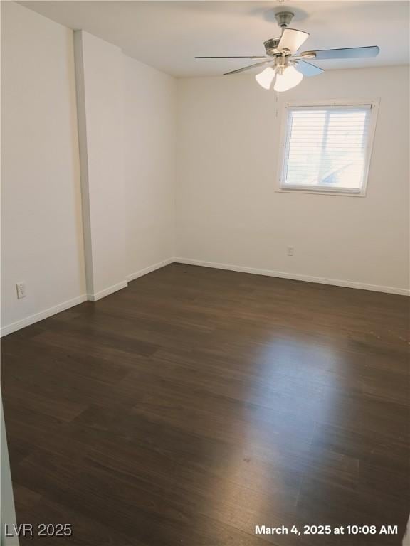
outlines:
[[[200,259],[175,257],[177,264],[199,265],[201,267],[212,267],[214,269],[226,269],[227,271],[238,271],[241,273],[252,273],[256,275],[265,275],[266,277],[280,277],[280,279],[291,279],[293,281],[315,282],[318,284],[332,284],[335,287],[357,288],[361,290],[371,290],[375,292],[386,292],[387,294],[399,294],[401,296],[410,296],[410,290],[405,288],[384,287],[379,284],[365,284],[362,282],[342,281],[340,279],[326,279],[325,277],[310,277],[309,275],[300,275],[295,273],[285,273],[281,271],[271,271],[270,269],[256,269],[254,267],[243,267],[240,265],[219,264],[216,262],[203,262]]]

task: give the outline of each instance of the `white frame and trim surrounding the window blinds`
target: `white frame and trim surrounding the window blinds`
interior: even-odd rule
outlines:
[[[313,193],[325,196],[351,196],[364,197],[367,192],[367,182],[369,179],[370,161],[372,159],[374,133],[376,132],[377,114],[379,112],[379,98],[372,99],[327,99],[327,100],[308,100],[308,101],[293,101],[286,102],[282,111],[282,122],[280,127],[280,149],[278,161],[278,188],[276,191],[280,193]],[[350,190],[349,188],[314,188],[312,186],[289,186],[283,181],[285,173],[286,154],[286,137],[288,134],[289,125],[289,109],[295,107],[329,107],[329,106],[371,106],[370,121],[369,121],[369,137],[367,140],[366,159],[363,171],[363,184],[359,190]]]

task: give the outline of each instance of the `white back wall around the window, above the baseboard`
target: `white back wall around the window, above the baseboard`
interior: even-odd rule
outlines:
[[[178,80],[177,256],[406,289],[408,96],[405,67],[329,70],[278,105],[252,75]],[[283,102],[357,97],[381,98],[367,196],[275,193]]]

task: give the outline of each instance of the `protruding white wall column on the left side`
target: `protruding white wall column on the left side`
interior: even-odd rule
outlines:
[[[127,286],[122,52],[74,38],[87,291],[99,299]]]

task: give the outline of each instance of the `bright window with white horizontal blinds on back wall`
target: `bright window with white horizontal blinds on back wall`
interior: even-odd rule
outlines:
[[[287,105],[280,189],[364,195],[376,106]]]

